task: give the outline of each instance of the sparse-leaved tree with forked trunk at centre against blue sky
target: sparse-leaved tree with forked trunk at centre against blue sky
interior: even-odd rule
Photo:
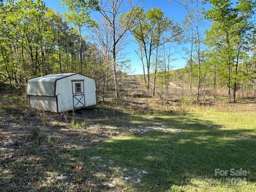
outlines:
[[[154,7],[152,10],[148,10],[144,13],[140,7],[137,7],[137,12],[140,13],[139,17],[141,19],[131,28],[130,31],[135,38],[135,42],[139,44],[140,50],[143,50],[143,54],[141,53],[141,55],[145,56],[147,67],[146,88],[147,91],[149,91],[151,57],[154,54],[154,51],[157,50],[159,46],[162,46],[167,42],[179,42],[182,30],[178,23],[174,24],[173,20],[164,17],[164,13],[161,9]],[[166,35],[167,32],[169,33],[168,35]],[[155,64],[156,74],[157,59]],[[144,76],[146,76],[146,74],[144,74]]]

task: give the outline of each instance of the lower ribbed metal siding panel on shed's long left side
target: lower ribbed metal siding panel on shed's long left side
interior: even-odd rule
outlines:
[[[46,111],[57,112],[56,97],[44,97],[44,96],[29,96],[30,107],[41,109]]]

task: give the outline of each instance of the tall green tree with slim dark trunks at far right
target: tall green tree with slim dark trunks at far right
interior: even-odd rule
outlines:
[[[231,86],[233,83],[233,102],[236,102],[238,80],[238,64],[245,48],[246,38],[250,34],[251,15],[255,4],[252,1],[239,1],[234,7],[230,0],[210,0],[212,9],[206,12],[206,17],[214,21],[211,30],[207,31],[210,45],[218,49],[218,54],[225,63],[228,73],[228,102],[231,102]],[[234,69],[235,68],[235,69]],[[225,75],[225,73],[223,73]]]

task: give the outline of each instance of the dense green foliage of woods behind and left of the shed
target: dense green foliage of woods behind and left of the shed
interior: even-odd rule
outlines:
[[[71,14],[65,14],[68,18],[46,7],[42,0],[8,1],[0,7],[1,91],[6,83],[11,89],[20,88],[26,85],[29,78],[77,73],[81,69],[79,52],[82,53],[82,73],[94,77],[98,75],[98,66],[102,66],[98,46],[84,42],[83,37],[81,45],[78,28],[74,28],[81,27],[82,33],[84,27],[95,26],[90,13],[99,10],[98,1],[62,3],[66,3]],[[80,12],[74,15],[75,11]],[[74,27],[70,27],[71,22]]]

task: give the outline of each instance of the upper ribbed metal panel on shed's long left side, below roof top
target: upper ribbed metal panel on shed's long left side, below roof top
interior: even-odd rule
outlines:
[[[54,96],[54,82],[28,82],[28,95]]]

